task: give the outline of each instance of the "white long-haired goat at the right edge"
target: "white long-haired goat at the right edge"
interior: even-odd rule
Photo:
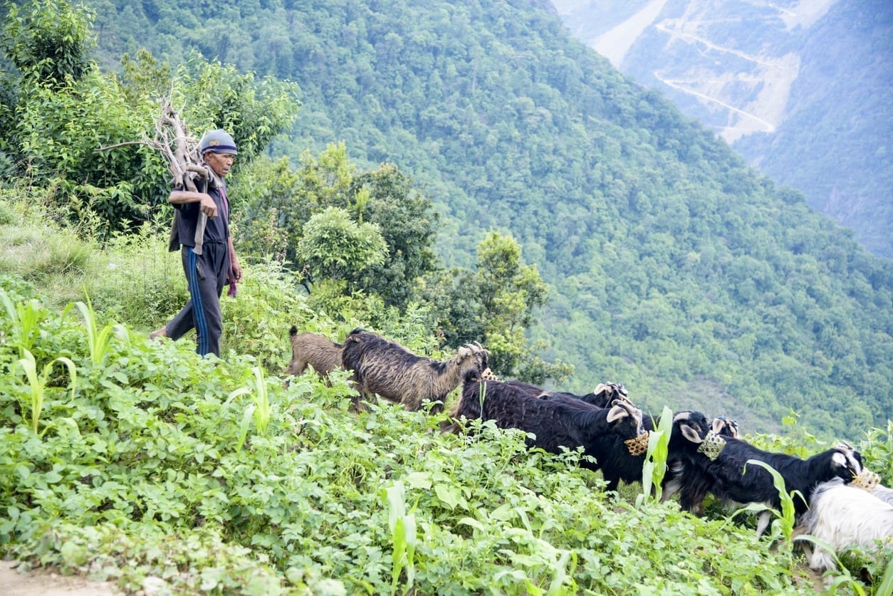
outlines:
[[[835,478],[814,488],[809,510],[794,530],[795,537],[802,534],[814,536],[838,552],[854,546],[872,549],[875,541],[893,540],[893,505]],[[804,545],[804,551],[815,571],[835,567],[831,553],[821,546],[816,544],[813,550]]]

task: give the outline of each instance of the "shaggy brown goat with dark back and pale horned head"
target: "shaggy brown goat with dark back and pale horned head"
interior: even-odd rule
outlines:
[[[378,394],[412,412],[425,402],[435,403],[431,414],[443,411],[447,394],[459,386],[466,373],[479,374],[487,365],[487,350],[465,344],[446,362],[416,356],[395,341],[355,329],[344,340],[341,365],[353,371],[352,381],[361,395]]]

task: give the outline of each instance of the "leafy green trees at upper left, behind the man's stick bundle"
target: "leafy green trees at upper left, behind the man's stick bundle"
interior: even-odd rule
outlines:
[[[195,57],[170,71],[146,52],[125,56],[124,75],[87,59],[92,15],[64,0],[10,7],[4,63],[14,67],[0,109],[0,149],[8,178],[55,188],[55,204],[72,222],[96,231],[126,231],[166,205],[170,174],[153,138],[164,90],[189,130],[226,128],[249,161],[296,115],[296,86],[255,81],[253,73]]]

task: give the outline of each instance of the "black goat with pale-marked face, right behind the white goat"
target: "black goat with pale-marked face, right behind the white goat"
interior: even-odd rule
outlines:
[[[764,451],[731,437],[724,438],[724,444],[719,448],[713,455],[699,452],[680,462],[676,482],[681,508],[696,512],[710,492],[725,503],[764,503],[767,508],[779,509],[781,499],[772,482],[772,474],[762,466],[748,466],[748,459],[772,466],[784,479],[784,490],[787,493],[797,491],[795,517],[805,512],[806,499],[816,485],[836,477],[850,482],[862,472],[862,456],[847,443],[808,459]],[[756,527],[757,537],[764,533],[769,521],[770,514],[764,511]]]

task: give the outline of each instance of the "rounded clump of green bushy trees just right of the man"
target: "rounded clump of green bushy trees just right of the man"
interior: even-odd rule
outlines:
[[[405,309],[416,295],[417,281],[437,269],[431,246],[438,214],[430,199],[421,196],[413,180],[393,164],[357,171],[344,143],[330,145],[317,158],[305,153],[301,161],[292,171],[288,159],[272,164],[259,160],[239,180],[239,194],[247,197],[239,206],[246,242],[263,246],[268,255],[284,255],[298,272],[309,268],[314,276],[349,281],[345,291],[374,293],[386,306]],[[354,222],[355,229],[342,227],[342,234],[365,241],[370,239],[363,236],[374,229],[386,248],[383,258],[346,259],[337,267],[329,260],[322,266],[319,259],[331,248],[333,237],[324,239],[318,230],[308,235],[307,226],[331,208]],[[334,221],[331,212],[326,221]],[[271,246],[271,239],[279,239],[280,244]],[[371,254],[369,250],[363,246],[361,252]]]

